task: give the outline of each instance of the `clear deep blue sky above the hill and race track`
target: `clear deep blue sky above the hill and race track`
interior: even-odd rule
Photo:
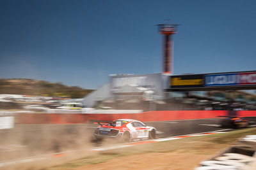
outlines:
[[[0,0],[0,78],[97,89],[161,73],[156,24],[181,24],[174,74],[256,70],[256,1]]]

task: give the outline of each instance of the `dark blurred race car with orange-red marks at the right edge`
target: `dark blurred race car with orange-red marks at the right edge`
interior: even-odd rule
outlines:
[[[223,117],[220,120],[221,127],[231,127],[231,128],[240,128],[240,127],[248,127],[249,120],[244,117],[237,116],[220,116]]]

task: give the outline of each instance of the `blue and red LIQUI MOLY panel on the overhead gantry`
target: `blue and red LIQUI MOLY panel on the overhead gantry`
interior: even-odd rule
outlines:
[[[207,74],[204,76],[205,87],[233,85],[256,85],[256,72]]]

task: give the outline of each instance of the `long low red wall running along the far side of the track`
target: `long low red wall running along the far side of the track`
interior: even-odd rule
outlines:
[[[84,124],[89,119],[116,120],[129,118],[141,122],[155,122],[165,120],[188,120],[199,118],[217,118],[218,116],[237,115],[242,117],[256,117],[256,111],[225,111],[225,110],[198,110],[198,111],[148,111],[143,113],[116,113],[116,114],[68,114],[68,113],[17,113],[16,124]]]

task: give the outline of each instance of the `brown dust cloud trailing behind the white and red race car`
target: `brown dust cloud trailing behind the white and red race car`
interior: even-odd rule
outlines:
[[[42,169],[80,159],[101,146],[88,124],[15,125],[0,131],[0,169]],[[35,160],[35,161],[34,161]]]

